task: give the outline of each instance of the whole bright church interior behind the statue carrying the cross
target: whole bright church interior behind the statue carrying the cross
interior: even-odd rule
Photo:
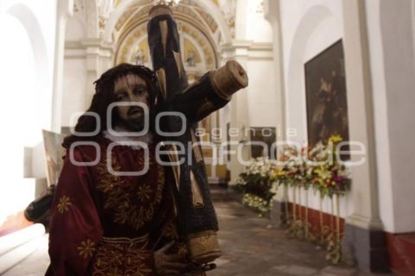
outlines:
[[[160,3],[190,85],[228,60],[249,77],[197,126],[222,252],[206,274],[414,276],[415,0],[0,0],[0,275],[44,275],[26,208],[94,81],[152,68]]]

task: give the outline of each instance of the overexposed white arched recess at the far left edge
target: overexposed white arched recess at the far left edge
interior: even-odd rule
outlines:
[[[48,61],[51,60],[48,60],[46,41],[44,39],[41,23],[38,20],[39,17],[36,16],[34,10],[22,3],[11,4],[4,9],[4,14],[2,15],[12,19],[19,25],[19,36],[24,38],[24,42],[22,41],[24,43],[22,44],[22,49],[30,54],[30,58],[27,57],[30,61],[24,59],[27,64],[21,63],[22,66],[26,66],[25,70],[8,72],[10,75],[15,75],[15,72],[23,74],[21,80],[24,83],[16,83],[17,86],[15,88],[13,88],[15,83],[10,79],[5,79],[4,83],[6,87],[9,86],[16,92],[16,96],[13,95],[13,97],[18,97],[19,106],[25,111],[25,116],[15,118],[13,123],[10,124],[7,122],[9,119],[3,115],[13,111],[11,107],[5,107],[1,112],[2,125],[5,126],[9,132],[13,133],[13,135],[5,137],[1,151],[5,155],[9,155],[10,153],[16,155],[16,158],[13,158],[7,164],[9,166],[9,174],[8,176],[5,176],[5,181],[14,183],[14,187],[7,191],[6,197],[14,198],[18,196],[19,199],[0,212],[0,221],[5,218],[3,217],[4,215],[13,214],[22,210],[21,206],[24,201],[34,199],[35,180],[23,178],[38,177],[39,175],[37,175],[36,162],[33,162],[32,164],[32,160],[25,154],[24,148],[32,147],[41,141],[41,128],[50,127],[52,96],[52,90],[50,89],[50,86],[48,86],[48,81],[51,79],[48,74]],[[6,28],[10,30],[12,26],[6,26]],[[17,39],[11,37],[9,40],[3,41],[3,43],[7,43],[7,46],[9,47],[10,45],[14,46],[15,41],[17,41]],[[14,59],[16,57],[21,57],[20,52],[13,48],[11,49],[12,50],[10,53],[7,53],[7,55],[10,55],[13,61],[15,61]],[[19,60],[19,62],[21,61]],[[30,67],[27,66],[28,64],[30,64]],[[3,65],[8,66],[7,63]],[[19,66],[19,63],[14,63],[13,67],[18,68],[16,65]],[[10,98],[8,98],[8,96],[5,97],[5,101],[7,102]],[[37,105],[37,102],[44,102],[46,108],[40,107]],[[1,163],[1,165],[4,165],[4,163]],[[32,169],[22,170],[23,166],[25,166],[25,168],[27,168],[27,166],[28,168],[32,166]],[[7,199],[6,197],[1,199]]]

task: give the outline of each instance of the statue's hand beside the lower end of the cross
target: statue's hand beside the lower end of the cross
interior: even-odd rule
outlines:
[[[179,251],[176,254],[166,253],[173,244],[174,241],[154,252],[154,265],[158,275],[182,275],[182,272],[187,269],[185,252]]]

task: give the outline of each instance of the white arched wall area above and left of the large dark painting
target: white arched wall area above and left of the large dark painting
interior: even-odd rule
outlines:
[[[343,36],[340,0],[282,0],[281,26],[287,128],[307,141],[304,64]]]

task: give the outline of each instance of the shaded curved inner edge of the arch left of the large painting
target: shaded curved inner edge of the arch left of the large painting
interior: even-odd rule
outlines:
[[[290,47],[290,59],[288,61],[288,74],[287,74],[287,97],[286,97],[286,119],[287,126],[294,122],[294,126],[301,123],[301,125],[306,126],[304,134],[307,133],[307,118],[305,116],[306,102],[305,95],[303,95],[304,87],[304,55],[307,50],[307,42],[311,38],[313,32],[318,28],[318,26],[329,18],[333,18],[333,13],[325,6],[312,6],[299,21],[297,28],[295,30],[291,47]],[[290,104],[292,100],[296,101],[296,105],[301,106],[298,110],[303,110],[304,114],[298,114],[298,118],[293,118],[290,112],[293,112],[290,107],[293,105]],[[293,121],[295,119],[295,121]],[[302,133],[299,133],[302,135]],[[303,138],[304,136],[300,136]]]

